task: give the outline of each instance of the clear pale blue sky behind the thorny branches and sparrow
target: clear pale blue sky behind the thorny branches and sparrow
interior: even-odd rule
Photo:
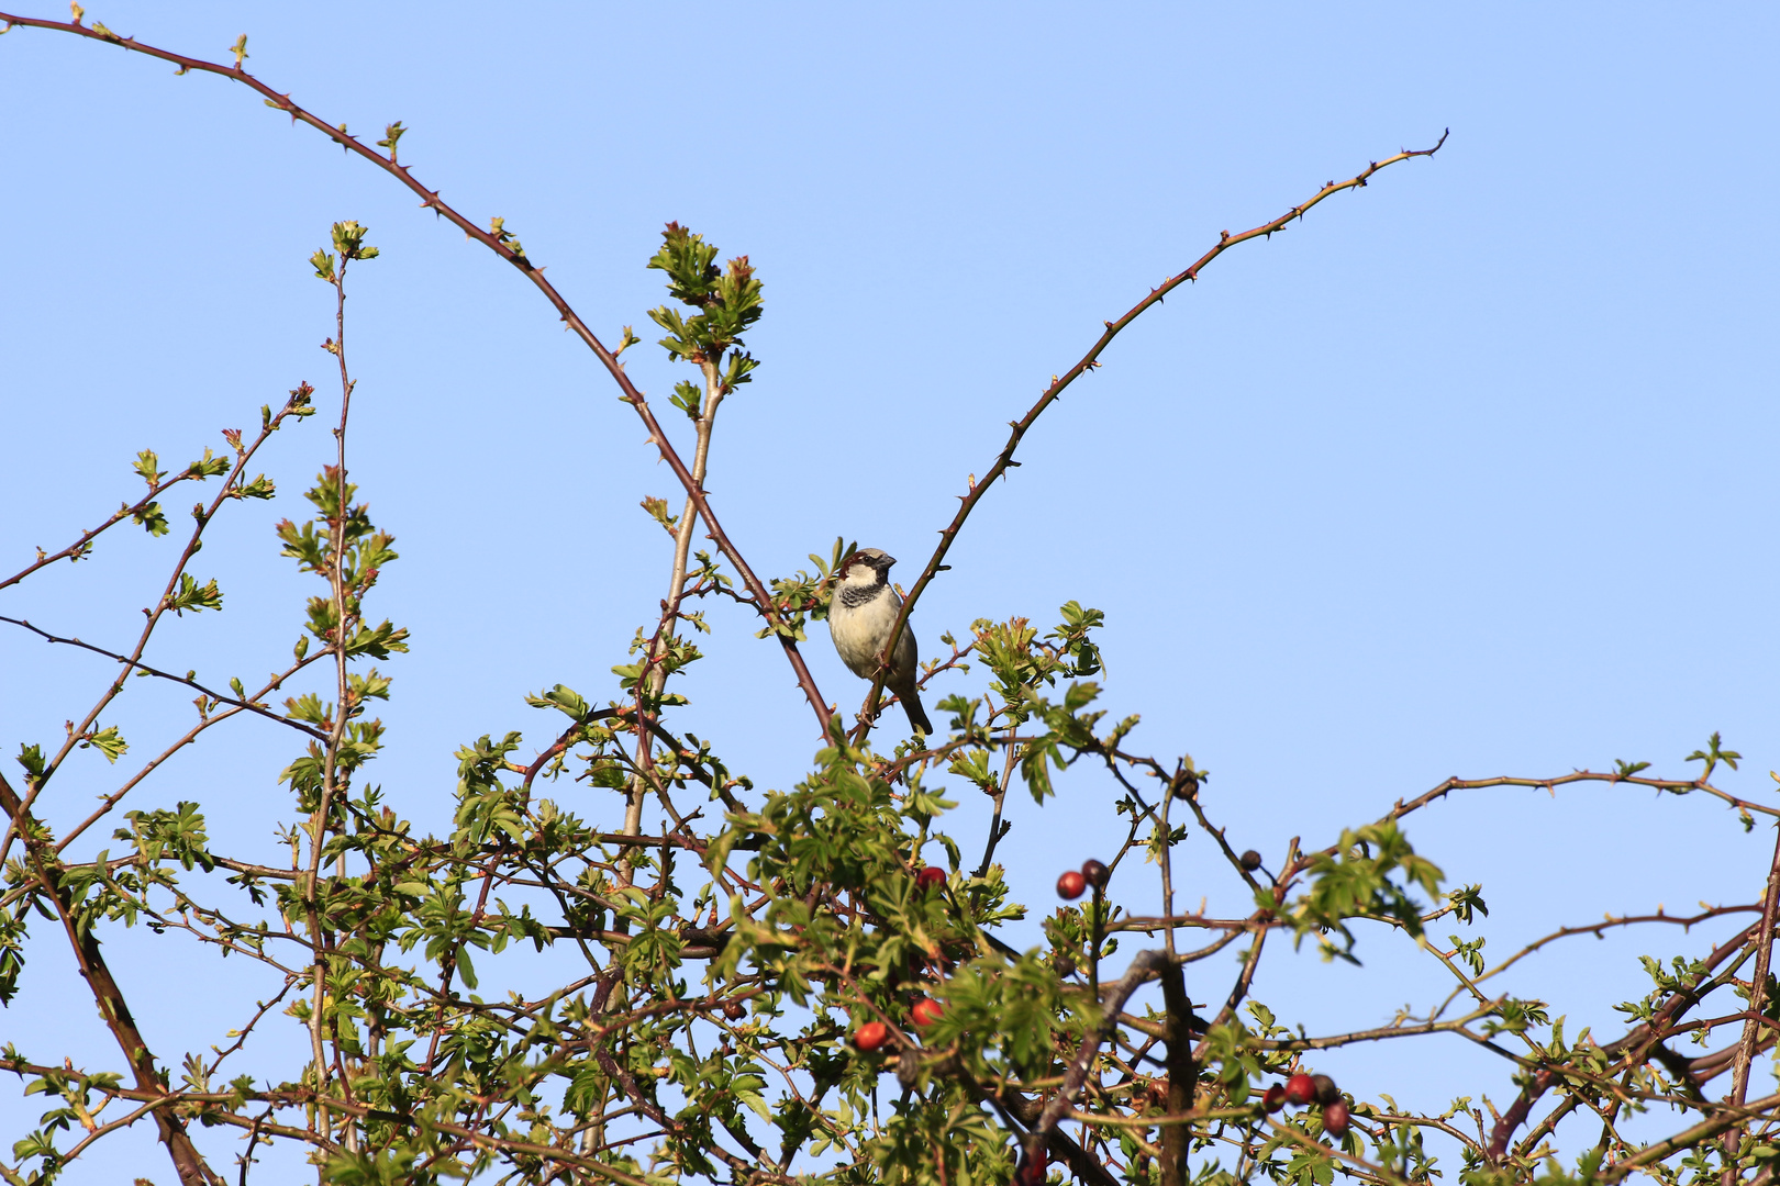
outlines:
[[[666,220],[749,254],[762,370],[723,409],[710,487],[774,574],[846,535],[911,580],[1004,423],[1104,318],[1219,229],[1451,126],[1438,158],[1225,256],[1120,338],[972,521],[917,612],[924,647],[975,617],[1105,610],[1105,706],[1145,715],[1134,745],[1209,768],[1210,811],[1269,862],[1290,836],[1328,843],[1452,773],[1614,757],[1684,773],[1714,729],[1746,756],[1725,784],[1773,789],[1771,5],[89,12],[214,59],[246,32],[249,68],[322,117],[402,119],[404,164],[468,215],[506,217],[609,341],[662,301],[643,263]],[[304,260],[329,222],[358,219],[383,258],[352,288],[354,478],[402,551],[381,605],[415,635],[388,665],[377,773],[445,827],[456,745],[541,729],[529,690],[612,692],[666,583],[666,537],[637,500],[673,480],[518,274],[217,78],[14,30],[0,110],[0,567],[134,498],[135,450],[219,446],[299,379],[331,402],[315,349],[329,292]],[[634,357],[666,407],[682,375],[653,345]],[[285,498],[233,509],[198,565],[226,612],[173,622],[153,658],[226,679],[288,654],[308,590],[269,528],[299,514],[326,453],[319,421],[274,443]],[[171,555],[107,542],[0,594],[0,613],[121,644]],[[680,720],[785,786],[808,759],[808,708],[751,622],[712,619]],[[826,695],[856,704],[826,637],[806,653]],[[110,674],[18,631],[0,633],[0,672],[7,752],[59,738]],[[134,688],[132,756],[189,711]],[[198,798],[219,843],[269,850],[287,749],[244,725],[137,805]],[[110,773],[93,759],[69,777],[55,818]],[[1111,802],[1084,773],[1045,813],[1015,807],[1011,877],[1038,910],[1061,868],[1116,843]],[[616,800],[578,807],[618,818]],[[956,823],[970,852],[979,816],[967,804]],[[1769,855],[1769,836],[1705,802],[1613,789],[1476,793],[1410,836],[1452,882],[1485,884],[1492,955],[1604,910],[1753,896]],[[1185,896],[1242,909],[1210,855],[1187,845]],[[1606,1005],[1643,990],[1634,953],[1707,937],[1588,942],[1515,987],[1570,1014],[1568,1033],[1611,1037]],[[169,1062],[219,1040],[185,955],[112,944],[167,960],[128,983]],[[1363,937],[1363,969],[1282,960],[1258,990],[1292,1022],[1380,1024],[1442,992],[1390,946]],[[1221,994],[1228,971],[1189,987]],[[263,990],[244,969],[212,974]],[[0,1030],[116,1062],[52,944]],[[1330,1067],[1431,1106],[1513,1094],[1504,1067],[1452,1046]],[[36,1104],[0,1097],[4,1131]],[[166,1174],[146,1127],[130,1142],[68,1181]]]

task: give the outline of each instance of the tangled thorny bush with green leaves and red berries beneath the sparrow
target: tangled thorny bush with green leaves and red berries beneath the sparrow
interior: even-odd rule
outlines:
[[[1520,955],[1486,962],[1479,887],[1451,884],[1404,832],[1408,816],[1454,791],[1579,781],[1718,800],[1744,829],[1771,821],[1775,809],[1714,786],[1714,772],[1739,759],[1716,734],[1689,757],[1700,763],[1693,777],[1654,777],[1645,763],[1620,763],[1550,779],[1452,779],[1317,846],[1294,841],[1273,855],[1239,853],[1202,804],[1207,775],[1193,759],[1137,750],[1134,717],[1111,720],[1095,709],[1102,615],[1072,601],[1043,631],[983,606],[988,617],[968,633],[942,635],[947,653],[926,665],[924,683],[956,672],[974,679],[974,693],[938,701],[943,734],[897,741],[885,724],[895,717],[879,717],[883,670],[849,717],[822,699],[799,654],[851,544],[835,541],[810,557],[808,571],[762,580],[705,496],[717,411],[756,366],[746,334],[764,304],[748,256],[719,263],[716,245],[668,224],[646,261],[669,295],[648,317],[660,347],[689,368],[669,400],[685,425],[669,414],[669,432],[619,365],[639,338],[627,327],[607,349],[500,219],[475,226],[415,180],[397,162],[400,124],[376,146],[347,135],[249,75],[244,41],[231,64],[208,62],[87,25],[78,5],[66,23],[0,20],[240,82],[408,185],[539,290],[644,421],[685,494],[678,512],[644,500],[669,537],[668,596],[612,669],[616,683],[543,688],[527,699],[539,711],[530,738],[490,734],[457,750],[447,834],[422,834],[399,818],[365,777],[384,745],[372,711],[392,692],[376,665],[409,645],[376,599],[379,574],[399,555],[349,468],[345,293],[349,276],[377,251],[363,226],[331,228],[329,244],[308,261],[333,290],[328,349],[338,375],[329,393],[299,384],[262,409],[256,430],[222,432],[221,453],[205,448],[164,468],[142,452],[134,469],[144,489],[134,501],[0,581],[4,592],[77,562],[114,530],[173,537],[176,546],[158,601],[121,651],[0,619],[117,669],[69,720],[66,738],[18,740],[18,768],[0,773],[0,999],[11,1001],[36,964],[73,960],[96,1024],[117,1046],[110,1065],[75,1065],[28,1035],[9,1035],[0,1067],[20,1076],[27,1095],[41,1095],[46,1111],[0,1163],[7,1182],[55,1181],[96,1142],[134,1124],[155,1127],[189,1186],[222,1182],[226,1170],[247,1182],[276,1147],[301,1150],[319,1181],[338,1184],[692,1177],[1178,1186],[1264,1175],[1308,1186],[1340,1174],[1490,1186],[1534,1175],[1609,1182],[1634,1170],[1675,1182],[1771,1175],[1780,1095],[1753,1092],[1752,1074],[1780,1024],[1769,971],[1780,864],[1748,903],[1691,919],[1558,928],[1550,939],[1639,921],[1743,923],[1716,948],[1670,964],[1648,958],[1652,989],[1620,1006],[1611,1038],[1591,1030],[1566,1038],[1541,1001],[1495,990],[1492,978]],[[1225,251],[1438,148],[1372,162],[1276,219],[1221,235],[1203,258],[1107,322],[1088,354],[1013,421],[983,480],[961,496],[908,590],[904,621],[993,478],[1018,464],[1024,434],[1125,325]],[[333,423],[333,441],[304,493],[308,505],[276,530],[279,555],[310,574],[315,590],[294,608],[288,663],[258,686],[219,686],[178,665],[148,663],[169,613],[221,610],[217,581],[192,571],[205,532],[237,501],[278,496],[256,457],[287,448],[312,416]],[[288,446],[310,448],[304,439],[313,443],[310,436]],[[162,501],[182,484],[203,489],[205,500],[178,544]],[[708,551],[694,546],[701,537]],[[732,772],[694,733],[694,713],[673,690],[675,676],[700,658],[696,637],[710,624],[694,606],[708,597],[758,617],[765,645],[783,651],[810,702],[810,734],[783,741],[819,745],[792,788],[756,788]],[[189,727],[151,741],[155,757],[141,766],[132,766],[132,750],[142,741],[126,741],[109,724],[117,699],[139,686],[132,677],[146,679],[137,695],[148,686],[196,693]],[[288,741],[279,759],[285,821],[276,845],[224,853],[210,843],[199,804],[142,807],[139,788],[167,756],[242,717],[276,722]],[[66,782],[57,775],[82,761],[82,750],[98,750],[123,773],[87,814],[57,800]],[[1006,797],[1031,795],[1043,805],[1054,772],[1068,766],[1100,770],[1116,786],[1125,841],[1100,853],[1104,861],[1061,871],[1061,905],[1016,903],[999,862]],[[958,805],[949,795],[968,791],[993,805],[981,855],[972,855],[977,841],[967,853],[967,837],[949,823]],[[50,816],[77,821],[53,829]],[[1248,914],[1177,909],[1173,850],[1194,830],[1250,887]],[[1161,878],[1161,916],[1121,905],[1146,877]],[[1022,951],[999,930],[1029,909],[1050,910],[1047,944]],[[1436,962],[1451,976],[1451,996],[1424,1015],[1324,1035],[1287,1026],[1251,996],[1264,955],[1287,944],[1355,958],[1356,921],[1388,928]],[[205,999],[217,1015],[217,1044],[208,1053],[155,1049],[103,946],[123,926],[253,964],[260,1003]],[[1465,928],[1470,937],[1447,934]],[[481,996],[482,980],[500,983],[504,957],[523,948],[570,953],[575,974],[548,992]],[[1216,990],[1189,998],[1187,969],[1200,992]],[[290,1024],[304,1035],[303,1056],[279,1065],[288,1046],[267,1035]],[[1356,1099],[1317,1069],[1323,1051],[1433,1035],[1497,1054],[1509,1102],[1479,1095],[1417,1110],[1390,1097]],[[1696,1051],[1679,1049],[1680,1037]],[[1661,1110],[1675,1113],[1668,1138],[1622,1133],[1630,1117]],[[1558,1127],[1581,1131],[1581,1120],[1598,1138],[1558,1158]],[[1458,1165],[1436,1168],[1426,1138],[1456,1149]]]

